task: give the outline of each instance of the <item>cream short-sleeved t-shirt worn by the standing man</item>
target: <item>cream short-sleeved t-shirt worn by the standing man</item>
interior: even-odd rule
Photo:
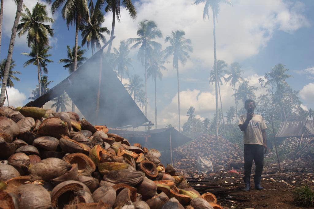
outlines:
[[[242,125],[246,120],[246,114],[240,115],[239,125]],[[243,142],[244,144],[260,144],[263,145],[263,135],[262,131],[266,129],[267,126],[261,115],[254,114],[253,118],[250,120],[246,130],[243,132]]]

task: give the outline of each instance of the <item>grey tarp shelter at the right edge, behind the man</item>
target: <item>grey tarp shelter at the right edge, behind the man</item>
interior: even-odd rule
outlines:
[[[314,136],[314,121],[288,121],[282,122],[276,134],[278,138],[301,137],[303,131],[304,136]]]

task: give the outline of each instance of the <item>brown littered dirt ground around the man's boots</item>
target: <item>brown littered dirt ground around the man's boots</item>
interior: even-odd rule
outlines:
[[[265,188],[263,191],[254,189],[253,177],[251,180],[251,190],[249,192],[241,191],[244,187],[242,176],[243,167],[237,169],[237,172],[230,173],[232,168],[216,168],[214,173],[206,176],[202,180],[208,180],[209,183],[225,185],[224,188],[232,190],[227,196],[227,201],[235,201],[239,204],[218,200],[218,203],[225,208],[306,208],[295,206],[293,202],[293,191],[295,187],[302,184],[314,186],[314,162],[310,159],[299,159],[293,162],[282,162],[281,169],[278,164],[264,163],[261,185]],[[253,164],[253,167],[255,165]],[[252,170],[252,174],[254,170]],[[295,182],[294,182],[295,181]],[[190,184],[191,186],[193,184]],[[196,185],[196,184],[194,184]],[[202,186],[202,183],[200,184]],[[230,200],[231,199],[231,200]],[[237,199],[237,200],[235,200]]]

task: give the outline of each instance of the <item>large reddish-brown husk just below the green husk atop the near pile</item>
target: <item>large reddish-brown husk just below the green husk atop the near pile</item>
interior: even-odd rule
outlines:
[[[67,135],[68,124],[57,117],[46,118],[37,130],[41,136],[52,136],[60,139],[62,135]]]

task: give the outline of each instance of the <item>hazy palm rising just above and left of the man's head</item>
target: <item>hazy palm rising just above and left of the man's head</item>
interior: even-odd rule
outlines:
[[[225,82],[230,81],[231,88],[234,89],[234,97],[235,97],[235,103],[236,103],[236,122],[238,122],[238,109],[237,109],[237,99],[236,99],[236,83],[240,81],[244,81],[244,79],[241,77],[241,74],[243,71],[241,70],[241,65],[238,62],[233,62],[230,65],[230,70],[226,71],[226,73],[229,75],[225,78]]]

